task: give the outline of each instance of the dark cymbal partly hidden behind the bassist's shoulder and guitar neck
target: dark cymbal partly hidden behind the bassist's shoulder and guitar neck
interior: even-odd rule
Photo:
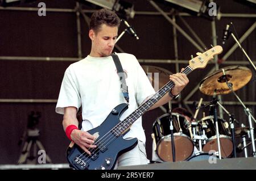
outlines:
[[[158,66],[142,65],[142,69],[146,74],[151,73],[151,74],[148,74],[147,77],[150,80],[155,91],[158,91],[160,88],[166,85],[166,83],[170,81],[169,76],[173,74],[171,73],[171,71],[163,68],[159,68]],[[158,74],[154,74],[154,73],[158,73]]]

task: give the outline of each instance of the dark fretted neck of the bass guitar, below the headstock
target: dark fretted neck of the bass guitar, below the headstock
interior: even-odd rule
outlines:
[[[188,75],[191,73],[193,69],[187,66],[181,73]],[[168,91],[174,87],[175,84],[172,81],[169,81],[166,85],[164,85],[161,89],[159,89],[154,95],[152,95],[149,99],[147,99],[144,103],[142,103],[134,112],[132,112],[129,116],[126,117],[123,121],[118,124],[118,127],[123,127],[124,130],[129,128],[131,124],[133,124],[139,117],[141,117],[147,110],[149,110],[158,100],[160,100]]]

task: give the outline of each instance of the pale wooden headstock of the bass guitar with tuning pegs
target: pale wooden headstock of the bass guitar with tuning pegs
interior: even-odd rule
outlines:
[[[189,67],[193,70],[205,68],[205,66],[207,66],[208,61],[211,60],[214,55],[220,54],[222,50],[223,49],[220,45],[217,45],[207,50],[206,52],[200,54],[199,56],[189,60]]]

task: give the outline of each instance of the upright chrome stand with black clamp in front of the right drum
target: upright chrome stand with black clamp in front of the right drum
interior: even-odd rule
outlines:
[[[217,110],[216,110],[217,102],[218,102],[218,100],[213,95],[213,100],[212,100],[212,103],[210,104],[210,115],[213,115],[213,117],[214,117],[214,123],[215,123],[215,127],[216,127],[217,144],[218,144],[218,157],[221,159],[220,135],[218,132],[218,116],[217,116]]]

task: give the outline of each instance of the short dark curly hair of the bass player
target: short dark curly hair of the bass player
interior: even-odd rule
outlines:
[[[101,24],[106,24],[109,27],[119,27],[120,19],[115,12],[101,9],[93,12],[90,19],[90,30],[98,32]]]

